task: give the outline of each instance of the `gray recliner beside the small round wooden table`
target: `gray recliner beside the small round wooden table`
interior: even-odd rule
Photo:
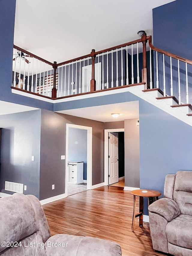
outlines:
[[[153,248],[175,256],[191,256],[192,171],[168,174],[164,198],[148,209]]]

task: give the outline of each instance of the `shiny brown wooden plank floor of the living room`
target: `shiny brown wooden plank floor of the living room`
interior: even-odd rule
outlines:
[[[87,190],[43,208],[52,235],[66,233],[116,241],[123,256],[163,255],[152,248],[148,223],[139,227],[136,219],[135,230],[131,231],[133,196],[121,187]]]

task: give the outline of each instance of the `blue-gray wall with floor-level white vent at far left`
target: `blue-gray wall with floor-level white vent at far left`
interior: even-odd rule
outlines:
[[[0,116],[1,173],[0,191],[5,181],[27,185],[24,194],[39,198],[41,110]],[[34,156],[34,161],[32,161]]]

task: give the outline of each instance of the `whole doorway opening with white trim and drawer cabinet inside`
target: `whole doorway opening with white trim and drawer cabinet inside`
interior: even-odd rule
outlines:
[[[66,124],[65,194],[92,185],[92,127]]]

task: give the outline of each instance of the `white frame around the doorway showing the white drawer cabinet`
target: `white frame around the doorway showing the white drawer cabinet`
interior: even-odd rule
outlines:
[[[65,142],[65,194],[67,196],[68,180],[68,144],[69,128],[87,130],[87,189],[92,187],[92,127],[83,125],[66,124],[66,142]]]

